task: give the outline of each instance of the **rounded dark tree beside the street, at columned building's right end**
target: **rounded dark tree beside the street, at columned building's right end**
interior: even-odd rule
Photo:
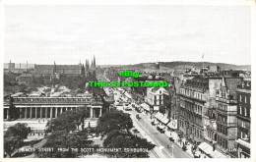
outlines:
[[[133,122],[130,114],[114,110],[105,112],[98,118],[96,132],[109,133],[112,130],[120,130],[128,133],[131,128],[133,128]]]

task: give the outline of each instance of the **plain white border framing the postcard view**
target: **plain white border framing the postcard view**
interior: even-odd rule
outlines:
[[[1,102],[1,107],[3,107],[3,34],[4,34],[4,28],[3,28],[3,22],[4,22],[4,12],[3,12],[3,5],[213,5],[213,6],[229,6],[229,5],[246,5],[246,6],[251,6],[252,9],[252,43],[251,43],[251,56],[252,56],[252,62],[251,62],[251,72],[252,72],[252,93],[251,93],[251,158],[250,159],[178,159],[178,158],[165,158],[165,159],[158,159],[160,161],[180,161],[180,162],[187,162],[188,160],[193,162],[193,161],[240,161],[243,160],[245,161],[256,161],[256,140],[255,140],[255,124],[256,124],[256,94],[255,90],[256,85],[255,85],[255,64],[256,64],[256,56],[255,56],[255,44],[256,44],[256,26],[255,26],[255,2],[253,0],[3,0],[1,1],[1,6],[0,6],[0,36],[1,36],[1,42],[0,42],[0,52],[1,52],[1,65],[0,65],[0,80],[1,80],[1,85],[0,85],[0,102]],[[253,99],[254,98],[254,99]],[[1,109],[3,110],[3,109]],[[3,113],[0,113],[0,119],[3,119]],[[0,135],[3,136],[3,124],[0,125]],[[53,158],[47,158],[47,159],[26,159],[26,158],[14,158],[14,159],[8,159],[4,158],[3,159],[3,137],[0,140],[0,161],[18,161],[19,162],[28,162],[28,161],[48,161],[48,160],[53,160]],[[102,159],[102,158],[96,158],[96,159],[80,159],[80,158],[68,158],[68,159],[56,159],[54,158],[55,161],[84,161],[84,160],[90,160],[90,161],[155,161],[156,159],[150,158],[150,159]]]

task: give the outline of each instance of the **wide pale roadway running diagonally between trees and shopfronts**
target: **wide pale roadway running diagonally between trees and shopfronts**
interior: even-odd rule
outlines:
[[[120,97],[120,92],[118,90],[114,90],[114,93],[114,99],[117,100]],[[122,106],[117,106],[117,109],[124,111]],[[159,154],[159,157],[162,157],[163,155],[166,158],[191,158],[191,156],[187,152],[183,151],[175,142],[169,141],[166,135],[160,134],[156,126],[151,125],[149,115],[146,115],[145,113],[137,113],[134,109],[124,112],[131,114],[135,128],[139,131],[143,130],[144,133],[141,134],[143,134],[144,137],[150,138],[154,141],[158,147],[157,149],[159,149],[159,151],[156,151],[156,153]],[[136,119],[137,114],[141,117],[140,120]],[[170,147],[172,144],[173,150]]]

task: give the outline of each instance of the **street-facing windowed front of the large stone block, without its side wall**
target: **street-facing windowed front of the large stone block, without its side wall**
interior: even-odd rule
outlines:
[[[179,130],[195,142],[203,141],[203,113],[208,92],[205,79],[188,80],[180,87]]]

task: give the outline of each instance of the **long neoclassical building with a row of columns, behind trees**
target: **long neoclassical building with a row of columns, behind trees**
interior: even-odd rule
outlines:
[[[91,118],[98,118],[102,112],[102,102],[92,94],[83,97],[8,97],[4,100],[4,120],[10,120],[10,108],[15,110],[16,119],[57,118],[66,111],[81,108],[90,110]]]

